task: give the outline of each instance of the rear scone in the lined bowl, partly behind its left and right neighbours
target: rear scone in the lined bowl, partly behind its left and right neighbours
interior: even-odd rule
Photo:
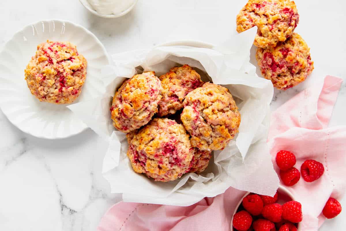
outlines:
[[[172,68],[168,73],[161,75],[160,80],[163,90],[162,100],[158,105],[159,116],[176,113],[183,108],[185,96],[203,85],[201,76],[187,64]]]

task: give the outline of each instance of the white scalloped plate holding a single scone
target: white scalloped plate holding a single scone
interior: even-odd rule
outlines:
[[[101,68],[110,63],[107,52],[91,32],[69,21],[44,20],[17,32],[0,52],[0,107],[9,121],[23,132],[46,139],[66,138],[86,126],[67,105],[40,102],[31,95],[24,69],[35,55],[37,45],[69,41],[88,61],[82,93],[73,103],[99,97],[104,92]]]

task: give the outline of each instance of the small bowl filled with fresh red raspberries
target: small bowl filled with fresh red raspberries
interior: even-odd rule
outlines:
[[[300,231],[301,204],[283,186],[271,196],[246,193],[233,214],[232,231]]]

